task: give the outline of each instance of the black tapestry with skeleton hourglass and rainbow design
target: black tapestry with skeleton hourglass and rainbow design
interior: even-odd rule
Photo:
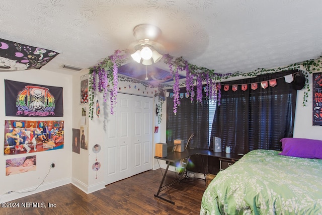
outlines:
[[[5,80],[6,116],[63,116],[63,88]]]

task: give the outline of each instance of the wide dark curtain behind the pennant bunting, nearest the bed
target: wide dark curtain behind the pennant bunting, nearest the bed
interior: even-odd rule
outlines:
[[[211,130],[210,149],[213,137],[221,137],[222,151],[230,146],[232,153],[246,154],[255,149],[281,150],[279,140],[293,136],[297,91],[286,83],[284,76],[298,70],[265,74],[256,78],[225,82],[221,84],[221,105],[216,108]],[[261,83],[276,79],[275,87],[263,89]],[[258,83],[256,90],[251,83]],[[237,84],[233,92],[231,85]],[[241,84],[248,84],[246,91]],[[224,91],[224,85],[230,85]]]

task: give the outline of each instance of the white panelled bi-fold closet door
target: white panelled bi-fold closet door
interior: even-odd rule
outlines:
[[[108,116],[106,184],[152,169],[153,98],[118,93]]]

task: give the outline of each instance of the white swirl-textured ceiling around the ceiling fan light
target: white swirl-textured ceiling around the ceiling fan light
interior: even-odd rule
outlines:
[[[163,53],[247,72],[321,56],[321,9],[321,0],[2,0],[0,38],[60,51],[43,69],[73,74],[61,66],[93,66],[148,23]]]

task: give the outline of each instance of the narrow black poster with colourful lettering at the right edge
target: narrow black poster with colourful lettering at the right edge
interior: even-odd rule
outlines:
[[[322,73],[313,73],[313,126],[322,125]]]

